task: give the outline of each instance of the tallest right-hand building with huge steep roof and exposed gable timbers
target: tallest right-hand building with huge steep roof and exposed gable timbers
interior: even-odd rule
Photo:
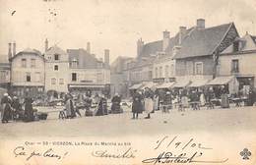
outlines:
[[[233,23],[205,27],[205,20],[197,20],[196,27],[190,28],[173,57],[176,85],[206,83],[215,78],[220,53],[238,36]]]

